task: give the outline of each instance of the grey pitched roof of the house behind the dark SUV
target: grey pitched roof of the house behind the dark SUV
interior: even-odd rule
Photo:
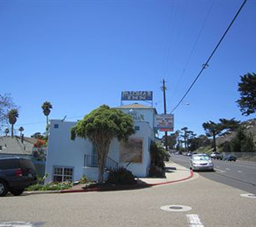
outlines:
[[[33,143],[19,137],[0,137],[0,154],[32,155]]]

